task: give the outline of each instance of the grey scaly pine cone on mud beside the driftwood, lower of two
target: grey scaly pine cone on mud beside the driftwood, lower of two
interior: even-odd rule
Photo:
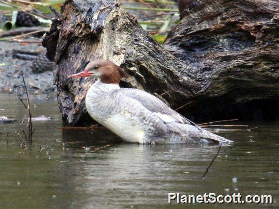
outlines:
[[[38,55],[33,60],[32,72],[33,73],[43,73],[45,71],[53,71],[55,68],[55,63],[50,61],[44,53]]]

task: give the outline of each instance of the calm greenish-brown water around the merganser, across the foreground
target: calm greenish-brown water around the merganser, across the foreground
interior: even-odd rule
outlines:
[[[220,132],[235,143],[222,147],[202,180],[218,145],[139,145],[122,142],[107,130],[61,130],[56,100],[45,97],[32,96],[37,106],[31,111],[52,120],[33,122],[33,145],[22,152],[13,131],[24,128],[24,107],[16,95],[0,94],[0,116],[18,120],[0,124],[0,208],[169,208],[168,192],[270,194],[279,201],[278,122],[242,122],[259,128]],[[85,148],[106,145],[97,151]]]

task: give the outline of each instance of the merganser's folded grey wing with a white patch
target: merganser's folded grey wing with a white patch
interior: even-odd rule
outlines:
[[[139,101],[142,106],[156,114],[165,123],[178,122],[182,124],[189,124],[200,129],[200,127],[194,122],[183,117],[178,112],[172,110],[163,101],[145,91],[141,91],[139,89],[121,88],[121,93]]]

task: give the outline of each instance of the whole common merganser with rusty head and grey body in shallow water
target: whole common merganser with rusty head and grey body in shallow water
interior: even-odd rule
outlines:
[[[125,141],[140,144],[232,142],[200,128],[145,91],[120,88],[120,79],[129,75],[109,60],[89,62],[83,72],[68,78],[90,76],[99,79],[86,94],[89,115]]]

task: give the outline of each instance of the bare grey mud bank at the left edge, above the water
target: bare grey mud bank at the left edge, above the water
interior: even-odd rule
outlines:
[[[31,39],[33,40],[33,39]],[[43,52],[44,48],[38,43],[15,43],[0,41],[0,92],[13,93],[22,90],[24,75],[30,90],[34,94],[53,92],[53,72],[47,71],[40,74],[32,72],[32,61],[12,57],[13,50]]]

